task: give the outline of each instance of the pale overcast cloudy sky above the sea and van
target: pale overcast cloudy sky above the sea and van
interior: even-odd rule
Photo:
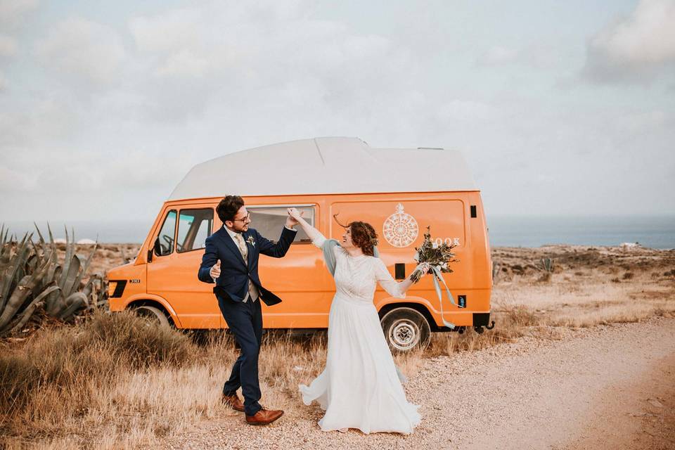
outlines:
[[[152,219],[195,163],[316,136],[463,150],[488,214],[673,214],[674,24],[675,0],[0,0],[0,221]]]

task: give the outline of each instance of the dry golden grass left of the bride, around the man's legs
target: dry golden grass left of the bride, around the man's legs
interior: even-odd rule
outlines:
[[[323,369],[325,333],[267,333],[260,363],[264,402],[290,406],[298,383]],[[221,406],[221,383],[238,354],[229,335],[198,345],[130,314],[41,330],[0,356],[0,447],[136,449],[157,446]]]

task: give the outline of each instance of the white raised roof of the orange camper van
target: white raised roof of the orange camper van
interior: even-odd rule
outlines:
[[[371,148],[358,138],[275,143],[195,165],[169,200],[227,194],[477,191],[458,150]]]

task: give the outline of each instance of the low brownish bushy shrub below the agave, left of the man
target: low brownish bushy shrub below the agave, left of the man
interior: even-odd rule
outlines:
[[[173,328],[129,312],[97,312],[82,326],[39,330],[22,347],[0,355],[0,410],[11,415],[49,388],[82,398],[83,405],[66,409],[86,407],[87,385],[105,383],[120,367],[182,366],[194,350]]]

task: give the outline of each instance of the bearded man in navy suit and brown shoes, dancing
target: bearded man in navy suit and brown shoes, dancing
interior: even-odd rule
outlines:
[[[258,352],[262,340],[260,301],[267,306],[281,299],[262,287],[258,278],[260,253],[281,258],[295,239],[292,227],[297,221],[286,219],[278,243],[249,228],[250,214],[239,195],[227,195],[216,207],[223,227],[206,238],[206,248],[199,267],[198,278],[204,283],[216,283],[213,292],[227,326],[234,334],[241,354],[232,366],[230,379],[223,387],[223,401],[237,411],[246,413],[251,425],[266,425],[283,415],[283,411],[262,408],[258,383]],[[242,403],[237,396],[241,387]]]

